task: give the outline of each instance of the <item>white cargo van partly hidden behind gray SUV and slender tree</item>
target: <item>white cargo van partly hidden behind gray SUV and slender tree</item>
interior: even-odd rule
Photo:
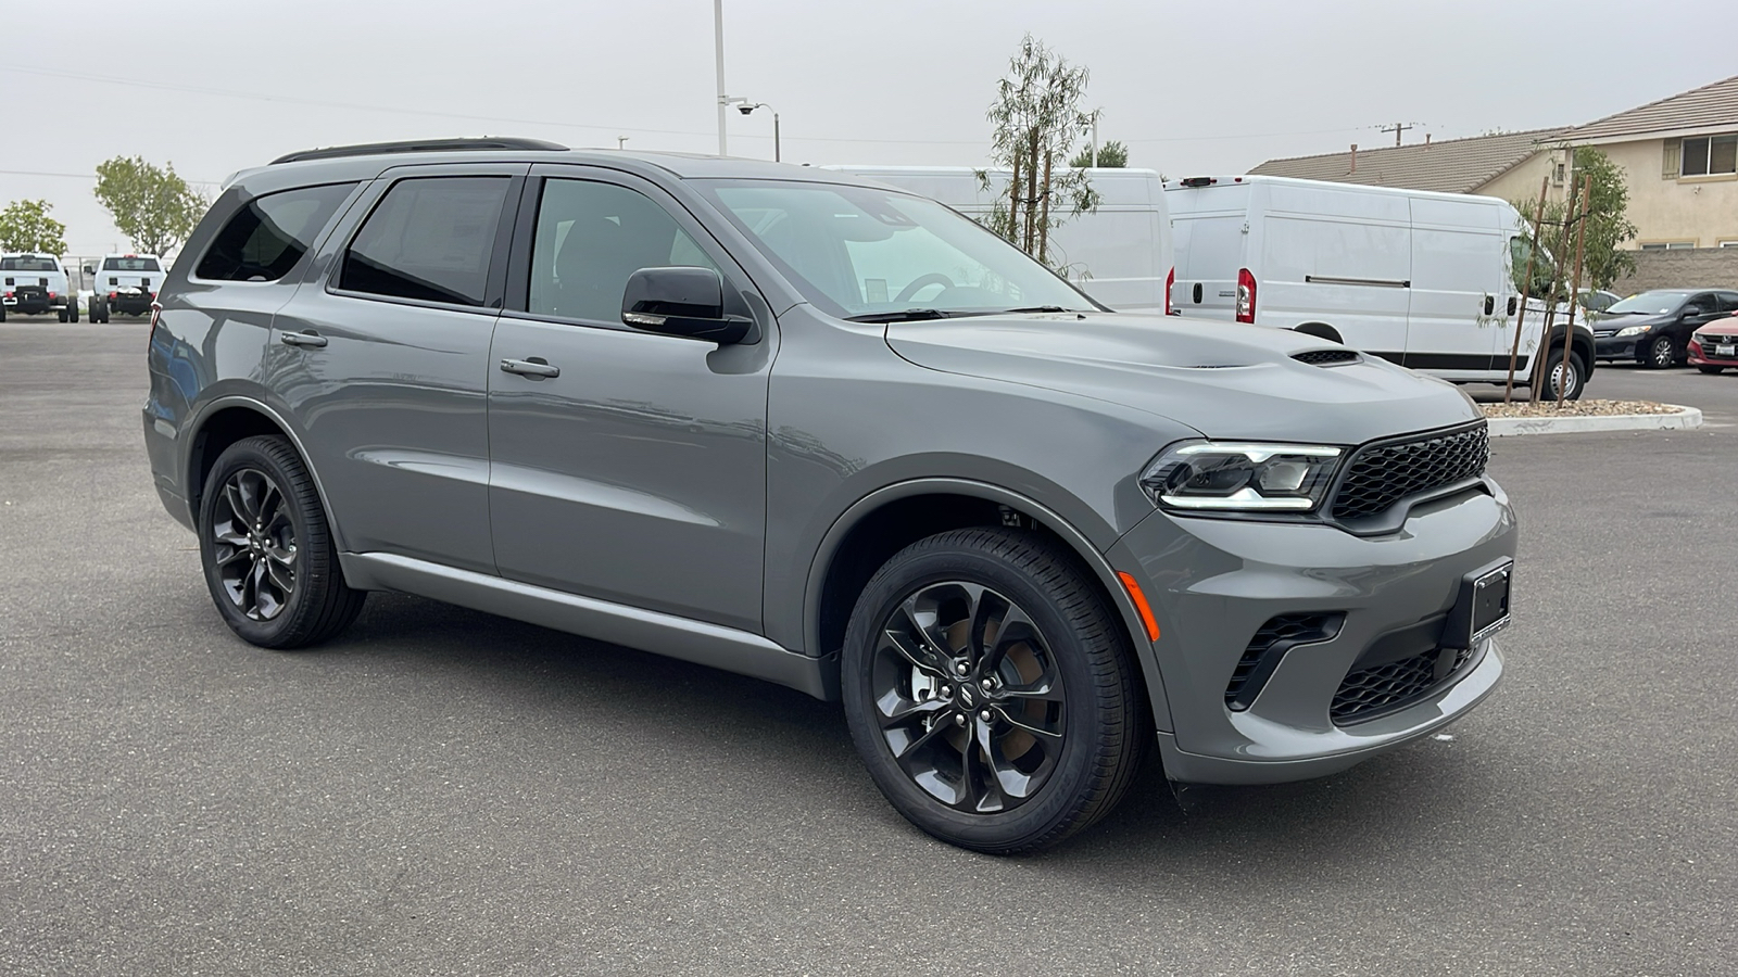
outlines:
[[[939,200],[966,217],[987,221],[1008,170],[989,170],[982,189],[972,167],[829,165],[888,186]],[[1051,264],[1069,282],[1118,311],[1168,311],[1171,276],[1171,223],[1164,210],[1164,181],[1156,170],[1098,167],[1088,170],[1098,191],[1098,209],[1078,214],[1050,231]]]

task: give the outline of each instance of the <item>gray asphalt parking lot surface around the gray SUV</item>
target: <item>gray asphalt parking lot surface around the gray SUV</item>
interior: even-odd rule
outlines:
[[[143,323],[0,325],[3,974],[1738,972],[1738,376],[1495,442],[1516,626],[1453,739],[1187,814],[1149,768],[1029,859],[909,827],[791,690],[405,596],[243,645],[144,388]]]

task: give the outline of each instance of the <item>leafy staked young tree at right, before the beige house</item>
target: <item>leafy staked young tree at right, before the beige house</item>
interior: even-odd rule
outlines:
[[[1635,236],[1635,224],[1629,221],[1629,188],[1623,183],[1623,167],[1611,162],[1592,146],[1580,146],[1573,150],[1571,174],[1575,181],[1571,183],[1571,191],[1566,196],[1576,200],[1580,207],[1580,183],[1585,177],[1592,177],[1594,188],[1587,203],[1587,252],[1582,264],[1582,287],[1583,289],[1609,289],[1613,282],[1623,275],[1635,271],[1635,256],[1623,250],[1620,245]],[[1528,221],[1538,214],[1538,198],[1516,200],[1516,210],[1526,216]],[[1549,200],[1545,202],[1545,219],[1540,223],[1540,245],[1552,257],[1556,257],[1556,268],[1543,261],[1543,256],[1535,259],[1533,268],[1533,287],[1529,289],[1535,296],[1543,296],[1549,289],[1550,278],[1556,278],[1557,289],[1554,292],[1556,299],[1566,299],[1569,294],[1569,280],[1575,275],[1575,228],[1564,226],[1564,216],[1568,214],[1566,200]],[[1526,259],[1516,263],[1516,285],[1521,285],[1526,275]]]

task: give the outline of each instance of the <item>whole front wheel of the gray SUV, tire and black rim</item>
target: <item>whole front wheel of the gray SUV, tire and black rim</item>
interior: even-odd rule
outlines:
[[[952,530],[899,551],[845,633],[845,720],[886,800],[978,852],[1043,848],[1128,791],[1151,739],[1119,617],[1055,544]]]

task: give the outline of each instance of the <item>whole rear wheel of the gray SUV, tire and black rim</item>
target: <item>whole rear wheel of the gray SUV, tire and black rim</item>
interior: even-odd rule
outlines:
[[[217,612],[243,641],[304,648],[362,614],[308,466],[283,438],[229,445],[200,499],[200,558]]]

